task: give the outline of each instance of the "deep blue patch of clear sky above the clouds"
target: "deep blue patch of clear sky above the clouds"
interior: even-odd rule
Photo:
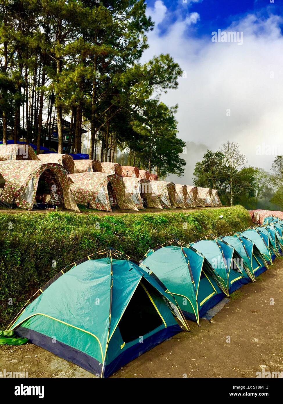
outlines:
[[[163,3],[168,9],[168,15],[159,25],[161,35],[177,19],[192,12],[200,16],[199,24],[194,30],[195,36],[211,35],[211,32],[225,29],[250,13],[262,18],[267,18],[270,14],[283,15],[283,0],[274,0],[274,3],[270,3],[270,0],[164,0]],[[155,0],[148,0],[147,4],[153,7]]]

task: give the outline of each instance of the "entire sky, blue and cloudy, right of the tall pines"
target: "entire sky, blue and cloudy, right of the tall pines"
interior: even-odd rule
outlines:
[[[178,89],[161,95],[167,105],[178,104],[178,136],[188,145],[184,183],[205,151],[227,140],[240,144],[249,165],[270,170],[276,152],[266,150],[283,151],[283,0],[147,5],[155,29],[142,62],[169,53],[184,72]],[[213,42],[218,29],[242,32],[243,41]]]

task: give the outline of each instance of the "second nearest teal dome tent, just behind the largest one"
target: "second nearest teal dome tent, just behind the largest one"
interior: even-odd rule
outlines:
[[[165,245],[172,242],[178,245]],[[203,255],[179,240],[165,244],[149,250],[140,267],[170,290],[186,318],[199,324],[199,318],[222,300],[224,294]]]

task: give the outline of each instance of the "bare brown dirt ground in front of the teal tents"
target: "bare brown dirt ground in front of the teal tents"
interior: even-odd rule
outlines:
[[[130,362],[112,377],[256,377],[283,371],[283,259],[244,285],[211,320],[182,332]],[[270,305],[274,299],[274,305]],[[231,342],[226,342],[227,337]],[[0,371],[29,377],[93,377],[35,345],[0,346]]]

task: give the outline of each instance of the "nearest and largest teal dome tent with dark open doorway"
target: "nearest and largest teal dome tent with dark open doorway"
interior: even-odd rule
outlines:
[[[172,295],[135,263],[112,256],[115,250],[59,272],[10,329],[99,377],[182,331],[172,313],[188,329]]]

